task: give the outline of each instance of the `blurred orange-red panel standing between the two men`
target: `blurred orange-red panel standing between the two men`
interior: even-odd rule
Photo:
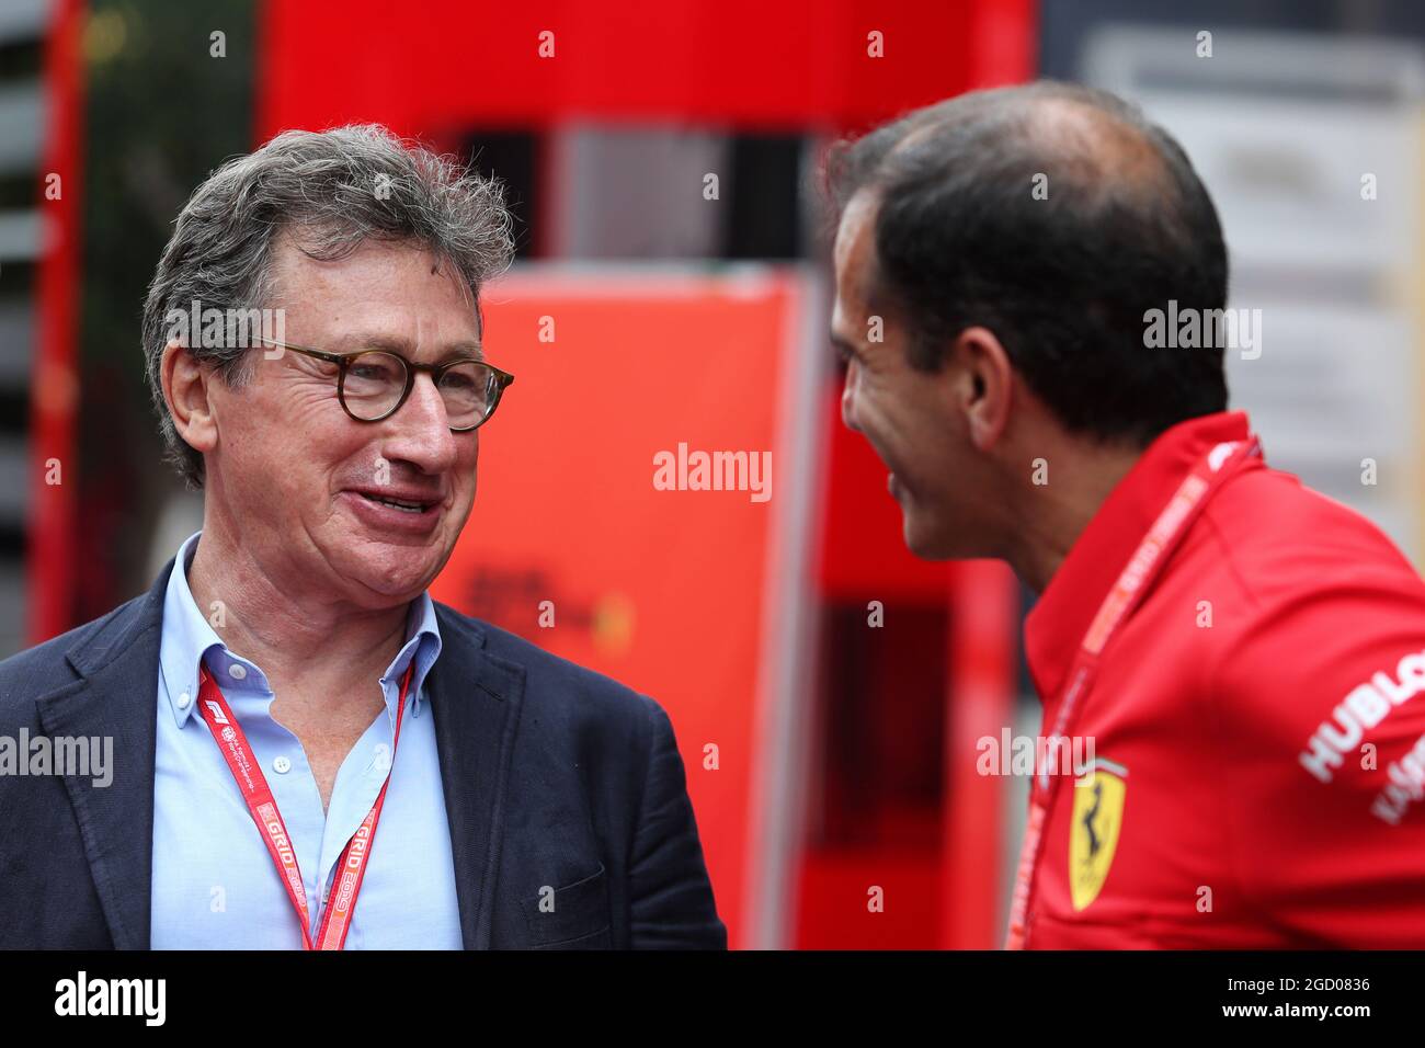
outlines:
[[[475,510],[433,593],[668,710],[732,944],[745,848],[771,500],[658,490],[654,456],[771,452],[789,278],[516,272],[486,294],[514,372],[480,431]],[[553,341],[540,335],[553,334]],[[752,481],[752,475],[744,479]],[[540,602],[554,626],[540,626]],[[718,769],[704,767],[704,746]]]

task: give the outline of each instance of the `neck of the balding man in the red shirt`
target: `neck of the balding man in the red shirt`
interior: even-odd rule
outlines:
[[[1015,573],[1043,593],[1110,492],[1143,455],[1140,448],[1082,445],[1052,456],[1047,483],[1022,485],[1006,552]]]

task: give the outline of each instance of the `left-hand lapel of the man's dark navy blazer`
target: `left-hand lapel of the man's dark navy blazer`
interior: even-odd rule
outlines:
[[[147,950],[154,848],[158,643],[174,562],[145,596],[66,652],[80,679],[36,700],[51,737],[113,737],[114,776],[66,776],[104,921],[118,950]]]

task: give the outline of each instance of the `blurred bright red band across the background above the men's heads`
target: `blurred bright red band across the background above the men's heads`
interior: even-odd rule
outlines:
[[[256,123],[259,137],[352,120],[422,135],[570,118],[835,133],[1027,78],[1033,33],[1030,0],[430,0],[399,14],[268,0]]]

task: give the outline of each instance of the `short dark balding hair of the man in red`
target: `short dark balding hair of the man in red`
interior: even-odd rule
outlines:
[[[1168,299],[1226,307],[1227,251],[1183,148],[1136,107],[1054,81],[976,91],[838,143],[826,175],[838,215],[876,197],[872,299],[909,325],[912,366],[982,325],[1067,429],[1147,445],[1226,409],[1220,342],[1144,345]]]

